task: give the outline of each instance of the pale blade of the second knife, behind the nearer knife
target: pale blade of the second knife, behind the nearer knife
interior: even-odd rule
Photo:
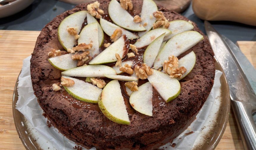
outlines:
[[[238,61],[238,64],[241,66],[246,78],[248,79],[252,90],[256,93],[256,70],[246,58],[246,56],[241,52],[238,46],[235,45],[230,39],[225,36],[221,36],[223,40],[227,43],[227,46],[230,48],[232,54],[235,56],[235,59]]]

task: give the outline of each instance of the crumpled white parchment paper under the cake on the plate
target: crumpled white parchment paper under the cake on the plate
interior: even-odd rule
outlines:
[[[30,77],[30,58],[31,56],[27,57],[23,61],[23,67],[18,82],[19,96],[18,102],[16,104],[16,109],[18,109],[26,117],[33,130],[37,131],[36,134],[40,134],[40,137],[42,136],[43,139],[48,141],[47,146],[43,147],[49,147],[49,149],[58,150],[72,150],[73,147],[77,144],[68,140],[66,137],[60,134],[56,128],[49,128],[46,123],[46,118],[42,115],[43,110],[39,106],[37,98],[34,95],[34,91],[32,89],[32,82]],[[202,133],[200,134],[200,130],[207,123],[207,119],[209,120],[210,111],[218,110],[218,105],[215,104],[218,104],[217,96],[220,95],[219,78],[221,74],[222,72],[216,70],[214,85],[207,101],[200,110],[199,114],[196,116],[196,120],[192,122],[190,127],[185,130],[180,136],[174,139],[173,143],[176,143],[177,145],[173,148],[170,146],[171,143],[167,143],[166,145],[161,147],[162,149],[191,149],[195,141],[197,139],[200,140],[200,136],[202,135]],[[193,133],[185,135],[185,133],[188,133],[190,131],[193,131]],[[45,140],[38,140],[38,144],[44,145],[45,142],[43,141]]]

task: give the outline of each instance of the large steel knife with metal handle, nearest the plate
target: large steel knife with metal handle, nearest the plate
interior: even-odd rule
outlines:
[[[243,146],[245,149],[256,150],[256,126],[252,118],[252,114],[256,111],[256,95],[227,43],[207,21],[205,21],[205,30],[215,54],[214,57],[220,63],[227,78],[231,107],[241,133]]]

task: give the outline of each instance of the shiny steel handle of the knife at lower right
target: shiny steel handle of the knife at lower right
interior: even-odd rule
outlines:
[[[256,105],[231,100],[231,107],[235,114],[244,149],[256,150],[256,126],[252,118]]]

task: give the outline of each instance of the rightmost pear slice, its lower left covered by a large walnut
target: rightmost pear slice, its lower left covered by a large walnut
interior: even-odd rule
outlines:
[[[185,78],[185,76],[187,76],[193,70],[195,64],[196,64],[196,54],[193,51],[191,51],[190,53],[188,53],[187,55],[179,59],[179,67],[183,66],[186,68],[187,71],[178,80]]]

